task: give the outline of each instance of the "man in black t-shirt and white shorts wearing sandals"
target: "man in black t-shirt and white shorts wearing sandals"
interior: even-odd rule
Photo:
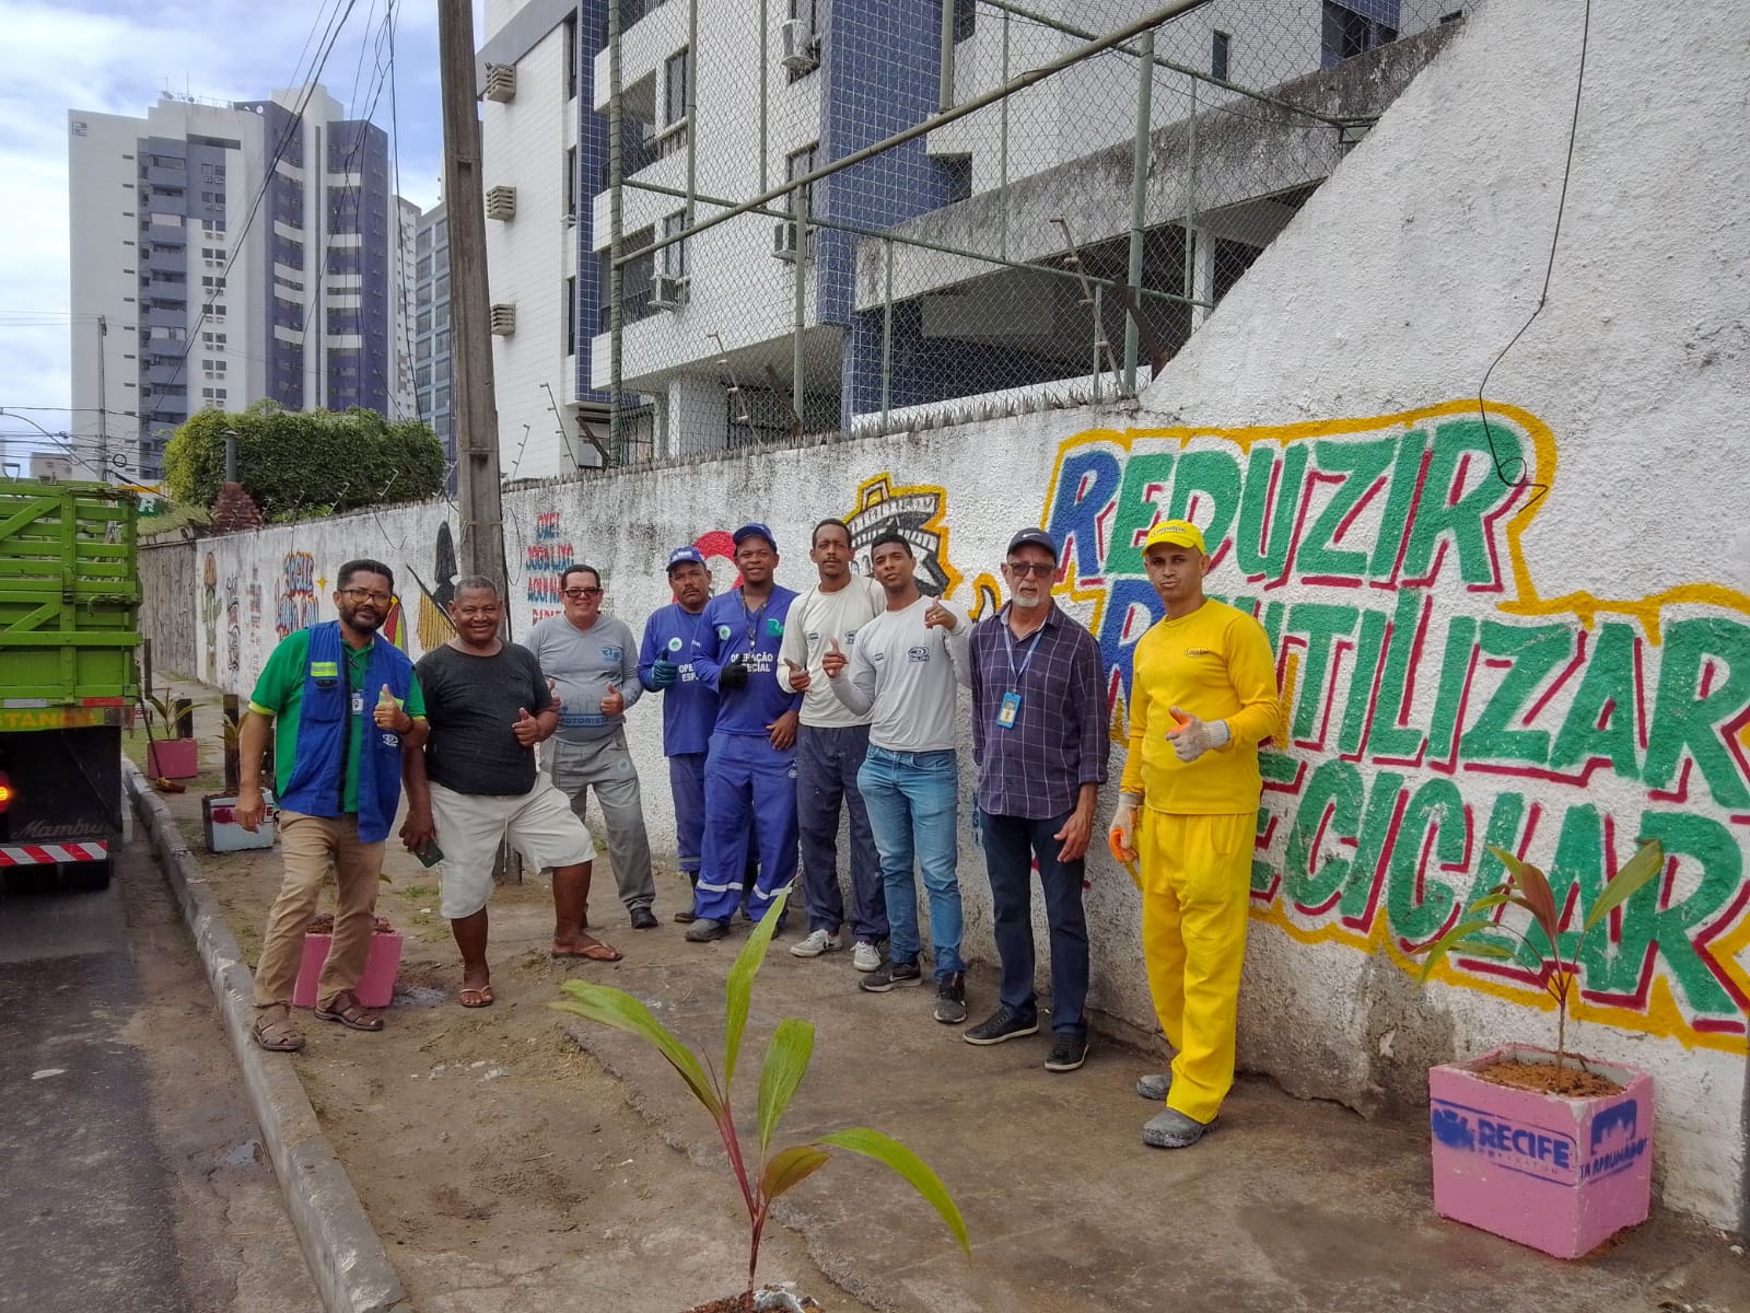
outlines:
[[[415,667],[430,739],[406,769],[401,839],[443,849],[441,910],[462,951],[460,1003],[492,1003],[486,898],[506,839],[530,867],[553,868],[553,956],[618,961],[583,931],[595,846],[570,802],[536,770],[534,746],[558,725],[558,704],[527,648],[499,639],[504,600],[492,579],[457,583],[455,637]]]

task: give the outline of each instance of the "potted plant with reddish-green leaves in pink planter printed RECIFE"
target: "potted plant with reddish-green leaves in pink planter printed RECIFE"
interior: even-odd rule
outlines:
[[[1652,1199],[1652,1077],[1570,1054],[1568,1007],[1586,937],[1664,870],[1664,849],[1642,844],[1591,907],[1577,907],[1584,921],[1568,952],[1564,905],[1549,877],[1500,847],[1489,853],[1507,879],[1423,949],[1421,979],[1449,954],[1530,966],[1556,1003],[1556,1049],[1503,1045],[1428,1071],[1433,1206],[1440,1217],[1573,1259],[1645,1222]],[[1530,921],[1507,921],[1508,909]]]

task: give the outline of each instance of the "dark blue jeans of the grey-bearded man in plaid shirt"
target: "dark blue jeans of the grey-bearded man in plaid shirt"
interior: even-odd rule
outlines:
[[[1032,994],[1032,863],[1040,863],[1045,924],[1052,933],[1052,1029],[1087,1033],[1082,1008],[1088,996],[1088,923],[1082,910],[1082,861],[1059,861],[1062,840],[1052,839],[1071,812],[1048,821],[978,812],[990,874],[996,952],[1003,959],[998,998],[1024,1017],[1038,1015]]]

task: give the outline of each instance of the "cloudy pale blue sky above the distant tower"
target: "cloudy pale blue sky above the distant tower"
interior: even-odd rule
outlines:
[[[30,424],[75,427],[66,415],[66,110],[144,116],[163,91],[259,100],[308,81],[317,28],[346,18],[320,72],[350,116],[380,79],[378,46],[390,0],[0,0],[0,439],[7,460],[44,446]],[[474,5],[476,42],[483,5]],[[443,128],[436,0],[397,0],[396,105],[383,91],[374,121],[401,135],[401,194],[438,201]],[[385,47],[387,51],[387,47]],[[42,410],[24,410],[38,406]]]

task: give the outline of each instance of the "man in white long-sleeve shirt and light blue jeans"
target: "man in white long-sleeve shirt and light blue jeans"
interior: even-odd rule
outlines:
[[[970,678],[966,635],[971,625],[917,586],[912,544],[884,534],[870,548],[875,581],[887,609],[858,630],[847,656],[830,644],[821,667],[833,695],[854,713],[872,713],[870,749],[858,772],[887,896],[887,963],[863,977],[863,989],[884,994],[922,984],[917,965],[917,860],[929,896],[929,937],[936,947],[936,1021],[966,1021],[966,963],[961,958],[961,884],[956,872],[959,832],[954,704]]]

